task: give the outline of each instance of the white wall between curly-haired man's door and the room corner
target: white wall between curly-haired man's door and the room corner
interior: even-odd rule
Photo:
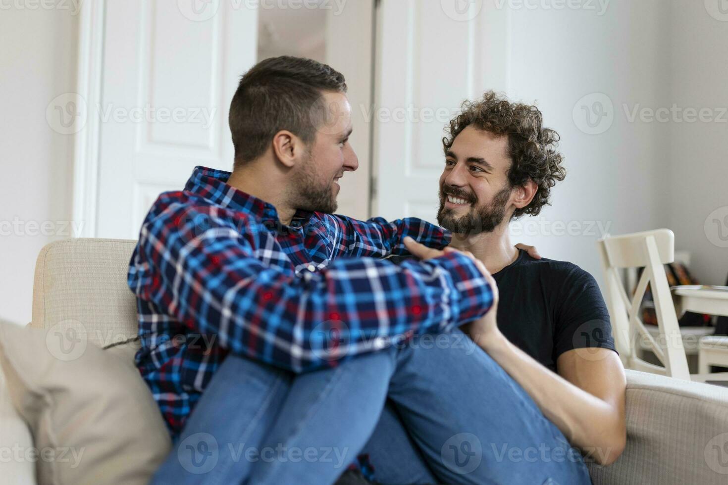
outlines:
[[[604,232],[667,223],[660,204],[665,177],[659,175],[668,153],[665,129],[630,123],[622,105],[663,103],[670,74],[669,12],[662,0],[614,0],[604,15],[597,2],[590,4],[596,10],[512,8],[508,94],[535,102],[545,125],[561,135],[567,176],[553,188],[553,207],[538,218],[522,218],[511,232],[514,241],[536,244],[545,257],[575,262],[601,282],[596,239]],[[577,105],[593,93],[603,93],[614,106],[606,105],[613,123],[604,118],[598,134],[585,132],[583,103]],[[587,105],[606,99],[603,95],[593,95]]]

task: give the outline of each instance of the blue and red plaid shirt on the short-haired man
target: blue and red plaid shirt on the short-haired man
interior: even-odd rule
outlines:
[[[173,435],[228,352],[306,372],[448,332],[491,307],[490,287],[462,254],[381,259],[409,254],[404,236],[442,248],[443,229],[303,211],[282,225],[229,175],[197,167],[183,191],[162,193],[130,261],[136,362]]]

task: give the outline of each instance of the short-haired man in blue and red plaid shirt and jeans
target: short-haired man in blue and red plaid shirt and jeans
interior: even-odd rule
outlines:
[[[331,483],[389,398],[446,481],[588,483],[561,432],[456,328],[491,307],[483,263],[440,249],[448,234],[421,220],[330,214],[357,168],[345,92],[315,61],[258,63],[231,105],[232,174],[197,167],[142,225],[128,281],[137,363],[178,438],[155,481]],[[483,385],[470,388],[466,365]],[[483,403],[494,416],[474,420]],[[465,432],[571,460],[463,465]]]

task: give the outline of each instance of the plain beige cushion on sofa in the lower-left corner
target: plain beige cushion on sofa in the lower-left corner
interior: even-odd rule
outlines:
[[[73,329],[0,324],[9,395],[41,452],[38,482],[146,484],[170,437],[133,365],[135,348],[101,350]]]

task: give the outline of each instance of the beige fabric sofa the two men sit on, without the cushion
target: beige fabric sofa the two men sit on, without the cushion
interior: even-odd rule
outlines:
[[[75,322],[100,347],[135,337],[135,300],[126,284],[134,246],[111,239],[45,246],[36,263],[31,326]],[[589,465],[593,482],[728,484],[728,389],[630,370],[627,375],[627,447],[609,467]],[[27,430],[12,429],[27,441]]]

